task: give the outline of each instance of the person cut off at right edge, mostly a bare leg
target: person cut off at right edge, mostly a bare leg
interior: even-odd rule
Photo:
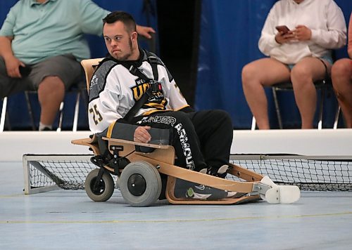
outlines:
[[[348,25],[349,58],[337,60],[332,65],[332,86],[344,114],[346,128],[352,128],[352,13]]]

